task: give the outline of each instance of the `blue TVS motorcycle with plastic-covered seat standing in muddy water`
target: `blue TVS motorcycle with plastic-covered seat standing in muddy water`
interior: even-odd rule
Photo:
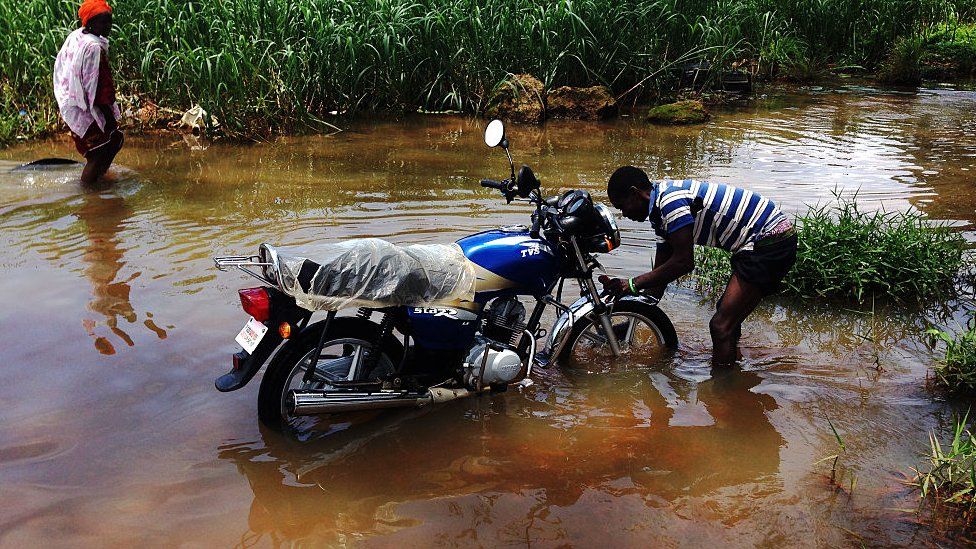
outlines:
[[[534,207],[530,227],[491,229],[434,250],[364,239],[335,245],[343,251],[331,261],[290,257],[269,244],[254,256],[215,257],[218,269],[240,269],[264,283],[238,292],[251,318],[217,390],[244,387],[267,363],[258,416],[268,427],[289,430],[304,416],[505,391],[531,383],[534,367],[578,354],[617,357],[634,348],[676,347],[674,326],[655,297],[611,300],[597,290],[596,256],[620,245],[610,209],[583,190],[544,198],[531,168],[523,165],[516,174],[500,120],[487,125],[484,138],[505,151],[510,173],[481,186],[507,203]],[[581,297],[566,305],[569,279]],[[534,301],[528,315],[520,298]],[[355,315],[338,316],[355,304]],[[548,307],[558,314],[546,330],[541,321]],[[318,312],[325,318],[311,322]]]

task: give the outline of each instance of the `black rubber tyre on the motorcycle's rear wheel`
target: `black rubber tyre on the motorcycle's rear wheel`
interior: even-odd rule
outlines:
[[[324,320],[316,322],[302,330],[298,337],[289,340],[284,347],[279,349],[268,364],[264,377],[261,379],[261,387],[258,390],[258,419],[265,426],[276,431],[287,430],[288,418],[284,417],[281,404],[283,393],[288,389],[287,384],[290,381],[292,371],[298,367],[298,361],[305,359],[315,351],[324,322]],[[378,330],[379,326],[375,322],[364,318],[334,318],[329,324],[323,349],[329,347],[329,342],[343,339],[374,341]],[[397,341],[392,334],[384,338],[380,347],[382,355],[374,364],[383,364],[384,359],[394,367],[400,364],[403,358],[403,344]],[[372,371],[360,372],[354,381],[368,381],[372,374]]]

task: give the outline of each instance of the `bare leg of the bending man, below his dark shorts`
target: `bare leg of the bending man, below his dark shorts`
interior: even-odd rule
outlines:
[[[730,366],[736,361],[742,322],[756,309],[763,295],[760,289],[733,274],[718,310],[708,323],[712,334],[712,366]]]

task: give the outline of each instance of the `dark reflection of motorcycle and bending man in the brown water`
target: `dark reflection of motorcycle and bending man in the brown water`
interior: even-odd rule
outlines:
[[[526,400],[495,399],[488,409],[466,401],[357,416],[306,443],[263,432],[254,443],[226,444],[220,458],[237,465],[254,493],[242,539],[319,544],[342,541],[344,531],[393,534],[437,520],[407,505],[433,494],[460,506],[467,496],[479,500],[477,513],[455,513],[454,534],[442,543],[504,541],[492,523],[544,539],[545,517],[560,509],[579,528],[602,529],[585,501],[592,491],[667,507],[777,476],[784,439],[767,417],[774,399],[752,391],[758,374],[717,372],[684,402],[662,395],[656,377],[691,387],[647,370],[583,376]],[[706,421],[675,425],[674,408],[684,405],[703,408]],[[522,511],[512,515],[513,506]]]

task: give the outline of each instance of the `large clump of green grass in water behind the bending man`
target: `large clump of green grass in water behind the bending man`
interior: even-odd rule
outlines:
[[[797,216],[796,264],[783,281],[787,295],[865,303],[932,300],[949,295],[964,264],[965,240],[918,212],[864,212],[854,198]],[[695,274],[708,292],[721,291],[728,253],[696,252]]]

